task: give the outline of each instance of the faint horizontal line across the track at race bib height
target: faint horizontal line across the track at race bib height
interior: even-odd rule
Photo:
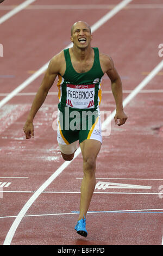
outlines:
[[[133,90],[123,90],[124,93],[131,93]],[[139,93],[163,93],[163,89],[141,90]],[[112,94],[111,90],[103,90],[102,94]],[[0,93],[0,96],[7,96],[9,93]],[[18,93],[15,96],[34,96],[36,93]],[[49,92],[48,95],[58,95],[58,92]]]

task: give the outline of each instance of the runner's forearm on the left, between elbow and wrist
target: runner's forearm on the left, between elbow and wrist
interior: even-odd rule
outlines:
[[[32,107],[30,108],[30,112],[28,114],[27,120],[30,122],[33,122],[33,119],[39,110],[39,108],[42,106],[43,102],[46,99],[48,91],[43,90],[41,87],[36,93],[36,96],[34,98],[34,101],[32,103]]]

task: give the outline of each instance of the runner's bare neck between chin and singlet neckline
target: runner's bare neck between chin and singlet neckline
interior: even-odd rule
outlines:
[[[86,48],[78,48],[77,46],[73,45],[71,48],[73,56],[78,60],[86,60],[90,58],[90,55],[92,54],[92,48],[91,46],[88,46]]]

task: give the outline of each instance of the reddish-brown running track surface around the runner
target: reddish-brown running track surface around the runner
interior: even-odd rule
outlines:
[[[21,1],[12,2],[16,5]],[[0,100],[70,43],[70,27],[75,21],[85,20],[92,26],[109,11],[104,4],[120,2],[98,1],[101,8],[86,9],[86,4],[92,2],[84,1],[85,9],[64,9],[65,1],[62,9],[47,9],[47,5],[54,5],[48,0],[46,7],[40,9],[45,1],[37,0],[5,21],[0,28],[4,35]],[[162,42],[163,3],[155,1],[162,8],[152,4],[153,1],[132,1],[93,33],[92,46],[114,59],[122,77],[124,98],[162,60],[158,45]],[[7,5],[7,1],[3,3]],[[1,16],[8,11],[0,8]],[[103,137],[86,239],[74,231],[83,176],[79,154],[34,200],[18,224],[11,245],[161,245],[162,74],[160,71],[125,107],[127,123],[118,127],[112,121],[110,136]],[[22,128],[42,78],[43,74],[22,90],[23,94],[0,108],[1,245],[28,199],[64,163],[52,129],[52,115],[58,103],[57,81],[35,117],[35,138],[24,138]],[[102,89],[101,111],[112,112],[115,102],[106,76]],[[105,182],[105,189],[99,182]]]

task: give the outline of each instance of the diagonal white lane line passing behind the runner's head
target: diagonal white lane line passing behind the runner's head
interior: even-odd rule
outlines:
[[[92,27],[91,31],[92,33],[95,32],[99,27],[101,27],[106,21],[111,19],[114,15],[118,13],[121,9],[123,9],[128,3],[130,3],[133,0],[123,0],[120,4],[118,4],[114,9],[109,11],[106,15],[104,15],[101,19],[99,19]],[[72,47],[73,44],[69,44],[66,48]],[[15,90],[13,90],[9,95],[4,97],[3,100],[0,101],[0,108],[7,103],[12,97],[14,97],[16,94],[21,92],[24,88],[26,88],[30,83],[32,83],[37,77],[39,77],[45,70],[48,68],[49,62],[47,62],[45,65],[43,65],[39,70],[37,70],[32,76],[27,78],[26,81],[20,84]]]

